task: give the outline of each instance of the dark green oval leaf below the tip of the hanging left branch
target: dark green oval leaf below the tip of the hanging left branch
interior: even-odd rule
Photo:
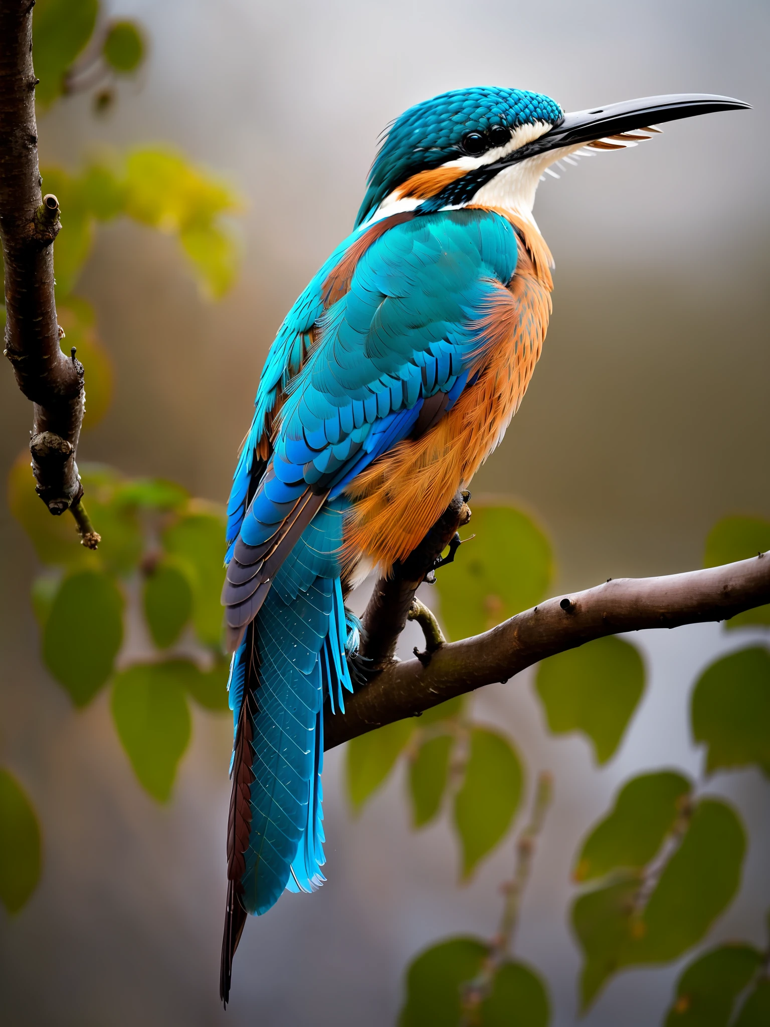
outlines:
[[[56,593],[43,631],[43,658],[83,707],[112,674],[123,640],[123,598],[102,571],[78,571]]]

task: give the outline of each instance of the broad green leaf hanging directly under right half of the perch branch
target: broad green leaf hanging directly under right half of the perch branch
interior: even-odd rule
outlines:
[[[554,734],[583,731],[599,764],[614,755],[645,690],[639,650],[610,636],[544,659],[536,686]]]

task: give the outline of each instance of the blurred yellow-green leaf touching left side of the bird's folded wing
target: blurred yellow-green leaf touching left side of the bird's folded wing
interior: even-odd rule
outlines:
[[[193,624],[205,645],[219,646],[222,636],[220,596],[225,579],[224,515],[195,512],[163,533],[166,553],[185,560],[193,573]]]

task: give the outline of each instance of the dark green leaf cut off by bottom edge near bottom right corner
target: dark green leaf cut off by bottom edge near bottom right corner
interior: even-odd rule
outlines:
[[[762,964],[750,945],[722,945],[685,967],[665,1027],[728,1027],[735,999]]]

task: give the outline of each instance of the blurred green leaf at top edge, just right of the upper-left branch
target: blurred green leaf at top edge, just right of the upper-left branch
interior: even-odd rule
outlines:
[[[64,90],[65,72],[93,33],[99,0],[37,0],[32,18],[35,100],[41,108]]]

